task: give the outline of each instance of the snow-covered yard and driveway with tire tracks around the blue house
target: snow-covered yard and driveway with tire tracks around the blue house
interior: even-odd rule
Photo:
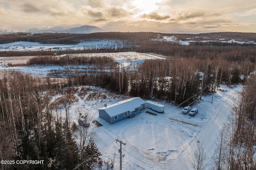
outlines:
[[[103,160],[113,158],[116,153],[114,169],[119,169],[120,143],[116,139],[126,143],[122,145],[122,168],[125,170],[162,170],[192,169],[189,163],[192,152],[196,149],[197,141],[203,143],[208,156],[207,169],[213,166],[212,155],[214,153],[215,140],[222,125],[228,121],[233,99],[238,97],[242,86],[228,88],[222,85],[212,96],[203,96],[199,103],[192,107],[198,108],[198,114],[190,117],[181,113],[182,108],[167,102],[159,102],[165,106],[164,113],[150,115],[144,109],[132,118],[110,124],[98,116],[98,109],[104,104],[114,104],[126,99],[126,96],[113,95],[103,89],[92,87],[91,92],[95,96],[105,94],[104,98],[86,100],[76,96],[79,101],[71,105],[69,109],[70,119],[77,123],[79,110],[88,111],[91,117],[90,130],[96,133],[96,143]],[[79,90],[78,90],[79,92]],[[98,95],[100,96],[100,95]],[[65,117],[65,109],[62,110]],[[97,127],[92,121],[98,121],[103,126]]]

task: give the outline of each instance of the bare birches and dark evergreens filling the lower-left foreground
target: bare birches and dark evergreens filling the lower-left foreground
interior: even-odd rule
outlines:
[[[63,88],[65,83],[54,84],[50,78],[33,78],[18,72],[0,80],[0,159],[44,160],[43,164],[1,164],[1,170],[74,169],[92,156],[94,161],[88,159],[83,168],[90,169],[100,160],[100,152],[89,132],[82,150],[78,148],[68,108],[66,121],[58,112],[60,104],[67,106],[73,100],[72,90]],[[58,90],[62,90],[65,100],[50,103]],[[80,127],[83,129],[86,128]]]

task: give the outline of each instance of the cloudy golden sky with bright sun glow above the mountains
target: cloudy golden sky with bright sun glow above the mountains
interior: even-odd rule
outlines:
[[[256,32],[255,0],[0,0],[0,29],[94,25],[106,31]]]

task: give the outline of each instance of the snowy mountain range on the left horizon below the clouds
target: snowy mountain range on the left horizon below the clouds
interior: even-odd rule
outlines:
[[[30,33],[95,33],[95,32],[103,32],[104,30],[92,26],[92,25],[58,25],[56,27],[52,27],[50,29],[38,29],[38,28],[31,28],[26,31],[12,31],[6,29],[0,29],[1,33],[14,33],[14,32],[30,32]]]

